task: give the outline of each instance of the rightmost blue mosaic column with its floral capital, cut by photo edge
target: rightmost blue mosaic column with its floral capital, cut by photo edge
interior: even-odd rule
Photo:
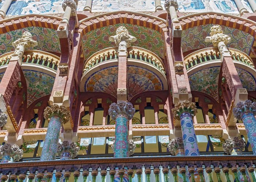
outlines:
[[[233,108],[234,116],[241,119],[244,123],[245,130],[248,136],[248,141],[251,144],[253,154],[256,155],[256,102],[245,100],[244,103],[238,102]]]

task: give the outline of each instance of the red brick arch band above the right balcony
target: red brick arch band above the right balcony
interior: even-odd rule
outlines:
[[[256,37],[256,22],[239,16],[225,13],[195,13],[179,18],[182,30],[200,25],[218,24],[230,28],[239,29]]]

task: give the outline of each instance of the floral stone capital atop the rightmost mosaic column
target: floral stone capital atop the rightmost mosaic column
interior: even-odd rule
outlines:
[[[238,102],[236,107],[233,108],[233,114],[237,119],[241,119],[242,115],[246,112],[256,115],[256,102],[245,100],[244,103]]]

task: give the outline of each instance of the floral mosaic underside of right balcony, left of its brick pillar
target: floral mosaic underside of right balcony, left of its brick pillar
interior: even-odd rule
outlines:
[[[217,102],[218,97],[218,80],[220,67],[210,67],[195,72],[188,77],[190,88],[192,91],[199,91],[210,95]]]

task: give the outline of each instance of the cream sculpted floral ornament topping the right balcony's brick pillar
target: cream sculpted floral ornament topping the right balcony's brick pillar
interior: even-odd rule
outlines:
[[[211,42],[214,47],[218,47],[221,54],[229,53],[226,44],[230,41],[230,36],[223,34],[220,25],[214,25],[211,27],[211,36],[205,38],[206,42]]]

